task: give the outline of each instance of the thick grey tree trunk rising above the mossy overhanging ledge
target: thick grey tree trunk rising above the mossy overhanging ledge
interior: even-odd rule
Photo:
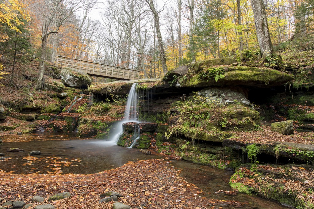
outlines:
[[[257,42],[263,57],[267,57],[273,53],[273,45],[269,35],[265,5],[263,0],[251,0],[251,3],[254,13]]]

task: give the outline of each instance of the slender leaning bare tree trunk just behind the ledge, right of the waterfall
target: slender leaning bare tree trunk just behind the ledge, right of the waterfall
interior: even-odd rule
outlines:
[[[162,36],[161,36],[161,32],[160,32],[159,15],[155,9],[153,0],[149,0],[149,2],[148,2],[148,0],[146,0],[146,2],[149,4],[149,8],[154,15],[156,35],[157,35],[158,45],[159,45],[159,49],[160,49],[160,59],[161,59],[162,70],[163,70],[164,74],[166,74],[166,72],[168,71],[168,68],[167,68],[167,64],[166,64],[166,54],[165,54],[164,45],[162,42]]]

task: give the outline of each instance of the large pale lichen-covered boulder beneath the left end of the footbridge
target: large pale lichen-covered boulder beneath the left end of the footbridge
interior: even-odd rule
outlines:
[[[68,67],[63,68],[60,75],[62,83],[69,87],[86,88],[92,82],[87,73],[79,72]]]

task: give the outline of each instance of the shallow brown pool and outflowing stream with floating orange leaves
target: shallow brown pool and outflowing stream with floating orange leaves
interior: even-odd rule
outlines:
[[[17,142],[6,142],[12,140],[12,137]],[[4,145],[0,146],[0,153],[11,159],[1,160],[0,169],[16,174],[90,174],[117,168],[129,161],[162,158],[157,155],[145,155],[139,153],[138,149],[120,147],[105,140],[80,140],[74,134],[39,132],[4,136],[2,139]],[[25,152],[7,152],[6,150],[11,147],[24,149]],[[42,155],[29,156],[28,153],[33,150],[41,151]],[[186,161],[172,160],[170,164],[181,169],[180,176],[202,189],[208,198],[240,201],[244,203],[244,208],[286,208],[279,203],[256,196],[242,193],[229,196],[217,193],[218,190],[232,190],[228,184],[233,174],[231,171]]]

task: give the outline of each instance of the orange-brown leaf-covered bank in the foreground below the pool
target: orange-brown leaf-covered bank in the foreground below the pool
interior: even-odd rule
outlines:
[[[1,203],[33,196],[48,198],[68,191],[70,198],[49,202],[56,208],[111,208],[112,202],[99,203],[100,194],[111,190],[121,193],[119,201],[133,208],[223,208],[239,207],[236,201],[210,200],[202,190],[178,176],[180,170],[161,159],[129,162],[117,169],[96,174],[11,174],[0,171]],[[44,203],[33,203],[35,205]]]

